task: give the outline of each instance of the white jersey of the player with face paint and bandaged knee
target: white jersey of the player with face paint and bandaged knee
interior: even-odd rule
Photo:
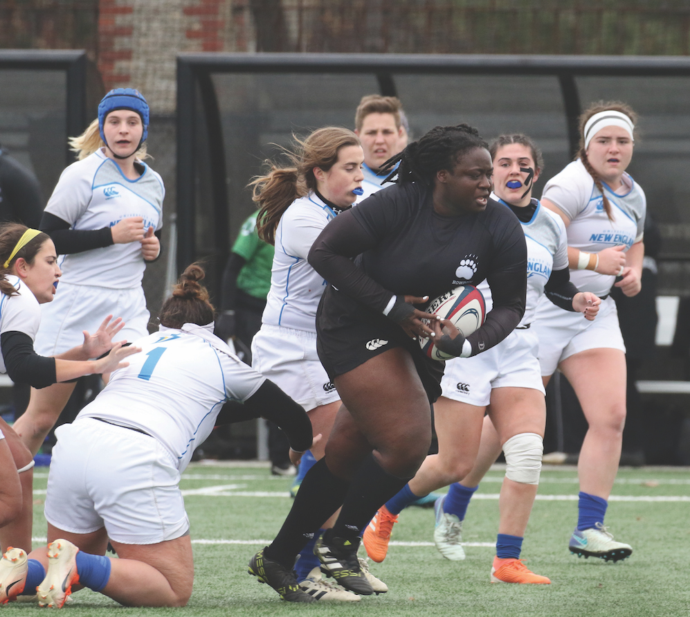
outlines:
[[[491,193],[491,198],[505,204],[496,193]],[[536,306],[544,294],[544,285],[552,270],[568,267],[568,238],[563,220],[548,208],[543,208],[537,199],[532,198],[532,203],[536,204],[532,219],[526,223],[520,221],[527,244],[527,301],[518,328],[534,321]],[[507,204],[505,206],[508,207]],[[477,288],[484,294],[488,312],[493,305],[489,283],[484,280]]]

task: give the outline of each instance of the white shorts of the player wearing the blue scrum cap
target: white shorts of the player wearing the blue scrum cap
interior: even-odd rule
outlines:
[[[53,356],[81,345],[82,330],[95,333],[108,315],[125,321],[125,328],[116,334],[113,342],[136,341],[149,333],[146,328],[149,312],[141,287],[110,289],[61,281],[53,301],[41,305],[41,325],[34,344],[36,353]]]

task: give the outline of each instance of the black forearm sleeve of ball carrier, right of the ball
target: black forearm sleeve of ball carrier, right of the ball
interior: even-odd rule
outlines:
[[[470,334],[471,355],[497,345],[520,323],[525,314],[527,269],[521,272],[498,272],[488,278],[493,308],[487,313],[484,325]]]

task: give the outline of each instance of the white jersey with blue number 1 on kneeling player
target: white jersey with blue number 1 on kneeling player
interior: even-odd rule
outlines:
[[[246,401],[266,381],[216,337],[213,324],[185,323],[134,341],[127,358],[78,418],[102,418],[160,441],[182,472],[213,429],[226,400]]]

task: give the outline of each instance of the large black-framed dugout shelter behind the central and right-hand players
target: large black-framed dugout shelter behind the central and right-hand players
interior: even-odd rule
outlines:
[[[660,293],[690,289],[690,57],[545,55],[181,54],[178,56],[178,267],[206,260],[220,276],[253,209],[246,184],[291,135],[352,127],[368,93],[399,96],[412,137],[467,122],[490,139],[525,132],[541,146],[543,182],[577,145],[595,100],[640,115],[630,173],[646,191],[664,246]]]

